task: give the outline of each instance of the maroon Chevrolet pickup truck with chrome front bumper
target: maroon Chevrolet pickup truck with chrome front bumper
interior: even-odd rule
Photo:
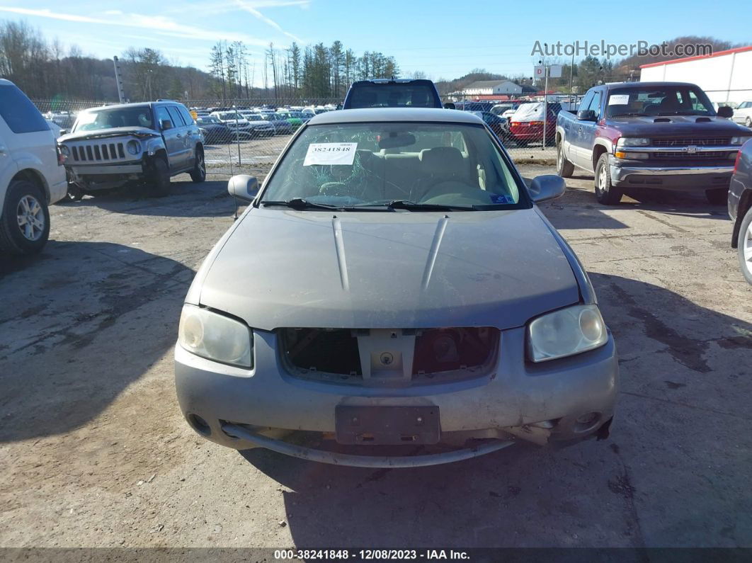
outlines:
[[[630,82],[595,86],[577,114],[556,119],[556,168],[595,175],[596,198],[617,204],[629,189],[705,192],[724,204],[734,161],[752,130],[718,113],[698,86]]]

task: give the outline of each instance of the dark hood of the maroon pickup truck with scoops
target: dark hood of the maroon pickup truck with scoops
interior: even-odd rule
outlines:
[[[749,135],[749,130],[724,117],[666,115],[650,117],[612,117],[607,125],[626,137],[733,137]]]

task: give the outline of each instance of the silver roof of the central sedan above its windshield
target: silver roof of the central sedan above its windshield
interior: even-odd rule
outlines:
[[[326,111],[318,114],[308,124],[368,123],[370,121],[483,123],[480,117],[469,111],[444,110],[435,107],[365,107],[356,110]]]

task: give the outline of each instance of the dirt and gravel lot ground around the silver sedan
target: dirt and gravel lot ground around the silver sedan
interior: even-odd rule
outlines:
[[[177,318],[233,210],[223,177],[186,179],[53,206],[44,253],[0,257],[0,546],[752,546],[752,289],[723,207],[607,208],[589,177],[544,204],[617,338],[611,439],[373,471],[183,421]]]

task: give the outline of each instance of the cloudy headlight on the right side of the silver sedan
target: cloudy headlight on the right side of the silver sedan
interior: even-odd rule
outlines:
[[[597,305],[575,305],[539,316],[527,325],[528,356],[546,362],[603,346],[608,341]]]

